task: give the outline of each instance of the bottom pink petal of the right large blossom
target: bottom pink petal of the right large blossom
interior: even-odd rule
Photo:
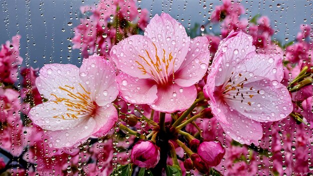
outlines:
[[[227,135],[232,139],[244,143],[254,143],[258,145],[258,140],[262,138],[263,131],[260,122],[246,118],[236,110],[225,112],[227,114],[227,121],[229,125],[225,125],[223,122],[220,123],[221,127]]]

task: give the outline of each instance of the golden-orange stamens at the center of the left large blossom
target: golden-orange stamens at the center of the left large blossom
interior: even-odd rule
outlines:
[[[58,97],[54,93],[51,93],[55,97],[53,100],[54,103],[63,103],[67,106],[68,112],[64,115],[53,116],[53,118],[61,119],[75,119],[78,118],[78,115],[93,115],[96,108],[96,103],[91,99],[90,92],[87,91],[80,83],[80,87],[83,89],[83,92],[73,93],[74,87],[69,85],[59,86],[58,88],[62,91],[65,91],[66,94],[71,98]]]

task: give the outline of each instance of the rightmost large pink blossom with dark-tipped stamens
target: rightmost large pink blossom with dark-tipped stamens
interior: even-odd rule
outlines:
[[[204,93],[226,134],[258,144],[260,122],[281,120],[292,111],[282,77],[280,56],[256,53],[250,35],[231,31],[221,41]]]

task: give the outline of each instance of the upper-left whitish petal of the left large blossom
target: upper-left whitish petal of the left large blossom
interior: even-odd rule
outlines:
[[[60,89],[63,87],[70,89],[71,92],[81,91],[81,82],[79,77],[79,68],[72,64],[47,64],[39,70],[40,75],[36,78],[36,86],[40,94],[47,99],[57,97],[66,97],[68,92]],[[69,87],[73,87],[73,89]]]

